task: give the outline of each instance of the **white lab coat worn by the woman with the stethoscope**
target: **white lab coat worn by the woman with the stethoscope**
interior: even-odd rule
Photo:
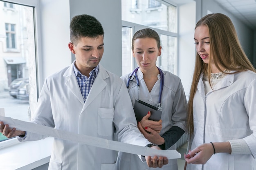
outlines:
[[[181,80],[176,75],[168,71],[163,71],[164,73],[164,87],[162,92],[162,130],[159,135],[163,135],[172,126],[178,126],[184,131],[186,130],[186,96],[183,90]],[[124,75],[121,78],[127,84],[130,74]],[[129,95],[131,97],[132,105],[134,106],[135,99],[139,99],[156,106],[159,100],[160,91],[160,74],[158,75],[158,80],[149,93],[146,83],[143,79],[143,73],[140,69],[137,71],[137,77],[139,79],[139,95],[136,79],[132,79],[129,84]],[[146,110],[147,113],[147,110]],[[145,113],[145,114],[146,114]],[[167,149],[167,148],[166,148]],[[173,145],[169,150],[176,149]],[[132,162],[132,163],[130,163]],[[120,170],[177,170],[177,159],[170,159],[167,165],[162,168],[148,168],[146,162],[142,163],[139,157],[129,153],[119,152],[117,167]]]

